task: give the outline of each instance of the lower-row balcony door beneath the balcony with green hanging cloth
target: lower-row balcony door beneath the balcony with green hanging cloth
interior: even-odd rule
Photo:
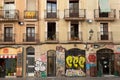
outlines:
[[[108,40],[109,33],[108,33],[108,23],[100,23],[100,34],[101,40]]]

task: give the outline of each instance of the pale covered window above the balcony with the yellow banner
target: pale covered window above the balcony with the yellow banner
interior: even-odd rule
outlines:
[[[30,11],[36,10],[36,0],[26,0],[26,9]]]

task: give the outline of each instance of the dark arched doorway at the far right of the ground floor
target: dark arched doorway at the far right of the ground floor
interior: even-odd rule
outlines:
[[[97,71],[102,75],[114,74],[114,53],[111,49],[97,51]]]

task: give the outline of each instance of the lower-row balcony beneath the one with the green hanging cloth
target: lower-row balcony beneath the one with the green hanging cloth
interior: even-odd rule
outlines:
[[[112,32],[101,31],[101,32],[98,32],[97,35],[98,35],[99,42],[112,42],[113,41]]]

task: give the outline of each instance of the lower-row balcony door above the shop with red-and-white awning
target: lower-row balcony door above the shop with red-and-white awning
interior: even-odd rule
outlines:
[[[12,27],[4,28],[4,41],[5,42],[13,41],[13,28]]]

